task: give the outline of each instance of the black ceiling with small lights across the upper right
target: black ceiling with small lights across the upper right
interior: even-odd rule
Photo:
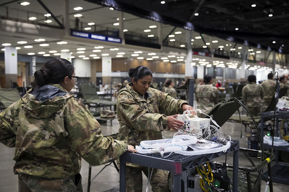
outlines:
[[[289,54],[286,0],[166,0],[165,4],[154,0],[86,1],[242,45]],[[251,7],[252,3],[256,7]]]

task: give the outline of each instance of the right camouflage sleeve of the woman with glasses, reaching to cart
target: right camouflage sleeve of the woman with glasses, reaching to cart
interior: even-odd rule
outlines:
[[[67,113],[64,121],[71,138],[70,145],[89,164],[96,166],[114,161],[125,152],[127,144],[103,137],[99,122],[79,100],[70,99],[64,113]]]

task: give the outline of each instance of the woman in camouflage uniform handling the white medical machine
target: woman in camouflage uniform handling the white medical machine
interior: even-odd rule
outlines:
[[[161,131],[181,129],[183,121],[175,119],[185,110],[193,110],[184,100],[175,99],[168,93],[150,87],[152,72],[145,66],[129,70],[132,82],[117,95],[117,118],[119,134],[117,139],[126,140],[130,145],[139,145],[143,140],[162,139]],[[142,192],[142,172],[148,177],[148,167],[127,163],[127,192]],[[154,169],[150,184],[154,192],[167,192],[168,172]]]

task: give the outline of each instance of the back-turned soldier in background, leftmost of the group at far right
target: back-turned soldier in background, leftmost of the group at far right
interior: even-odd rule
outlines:
[[[256,84],[256,76],[248,76],[248,84],[242,89],[242,97],[244,98],[245,107],[253,116],[260,116],[262,112],[263,88],[260,84]]]

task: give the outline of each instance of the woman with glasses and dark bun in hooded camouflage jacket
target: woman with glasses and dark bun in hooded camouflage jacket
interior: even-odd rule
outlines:
[[[68,60],[50,59],[34,76],[37,87],[0,113],[0,142],[15,147],[20,192],[81,192],[81,158],[96,166],[135,151],[103,137],[88,108],[69,94],[78,77]]]

